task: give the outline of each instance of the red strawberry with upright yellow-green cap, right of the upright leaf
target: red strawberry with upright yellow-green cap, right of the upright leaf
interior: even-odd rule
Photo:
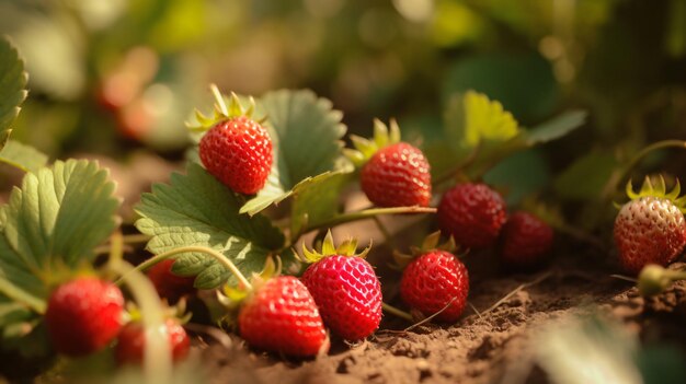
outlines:
[[[390,133],[379,120],[375,120],[374,129],[374,140],[352,136],[357,151],[346,150],[346,155],[362,166],[362,190],[379,207],[427,207],[431,173],[422,151],[400,142],[400,128],[395,120]]]

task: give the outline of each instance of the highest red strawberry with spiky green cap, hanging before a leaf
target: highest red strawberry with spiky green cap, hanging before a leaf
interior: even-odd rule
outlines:
[[[227,108],[219,91],[213,91],[219,106],[215,118],[207,119],[198,113],[198,120],[213,124],[199,142],[201,161],[233,191],[253,195],[264,187],[272,170],[272,139],[266,129],[250,118],[253,106],[243,112],[238,96],[232,94]]]

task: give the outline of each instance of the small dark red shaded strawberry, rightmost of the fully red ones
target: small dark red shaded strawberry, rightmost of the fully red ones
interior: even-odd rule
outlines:
[[[535,264],[552,246],[552,229],[548,223],[528,212],[515,212],[503,226],[501,257],[515,266]]]

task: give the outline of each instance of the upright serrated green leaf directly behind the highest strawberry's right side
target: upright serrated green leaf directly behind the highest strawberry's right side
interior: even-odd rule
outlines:
[[[341,138],[346,128],[342,113],[311,91],[275,91],[258,101],[258,113],[266,114],[275,143],[275,164],[267,186],[241,208],[255,214],[294,193],[299,183],[338,170]]]

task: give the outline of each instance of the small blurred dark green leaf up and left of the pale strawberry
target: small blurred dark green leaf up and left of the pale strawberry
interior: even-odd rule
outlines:
[[[586,153],[557,177],[554,190],[564,199],[597,199],[618,165],[611,153],[603,151]]]

